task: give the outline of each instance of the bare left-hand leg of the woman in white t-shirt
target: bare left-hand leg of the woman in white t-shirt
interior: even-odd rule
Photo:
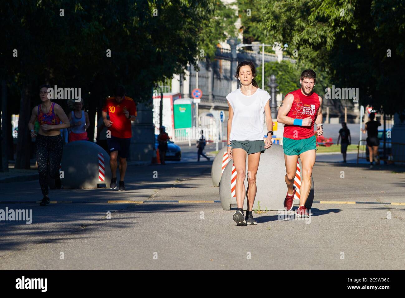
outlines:
[[[246,177],[246,151],[242,148],[232,149],[233,164],[236,169],[236,202],[238,208],[243,208],[243,202],[245,201],[245,177]]]

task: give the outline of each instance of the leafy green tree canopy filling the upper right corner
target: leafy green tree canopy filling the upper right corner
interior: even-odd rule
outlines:
[[[359,103],[387,114],[405,108],[405,6],[401,0],[263,0],[265,42],[298,50],[331,85],[359,88]],[[387,56],[387,51],[392,56]]]

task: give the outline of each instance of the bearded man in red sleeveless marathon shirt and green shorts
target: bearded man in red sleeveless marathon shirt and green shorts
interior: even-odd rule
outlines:
[[[322,97],[313,92],[316,81],[315,71],[306,69],[301,73],[301,89],[290,92],[281,103],[277,121],[284,123],[283,149],[286,162],[287,195],[284,208],[291,210],[295,195],[294,178],[298,157],[301,158],[301,188],[298,217],[309,217],[305,202],[311,189],[311,174],[315,164],[316,138],[313,123],[318,135],[322,135]]]

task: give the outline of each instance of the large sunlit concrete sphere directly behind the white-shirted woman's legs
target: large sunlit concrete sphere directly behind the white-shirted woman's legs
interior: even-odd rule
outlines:
[[[249,157],[248,157],[249,158]],[[246,159],[246,173],[247,162]],[[302,169],[301,159],[298,159],[299,168]],[[232,171],[233,169],[233,171]],[[233,172],[233,174],[232,174]],[[220,199],[223,210],[230,210],[231,204],[236,204],[236,196],[234,192],[232,194],[231,177],[233,180],[236,178],[236,170],[233,167],[233,160],[231,159],[226,165],[224,173],[222,173],[220,181]],[[272,144],[270,149],[267,149],[260,155],[260,163],[258,172],[256,175],[256,198],[253,205],[253,209],[258,208],[258,202],[260,201],[260,209],[265,210],[284,210],[284,199],[287,194],[287,186],[284,180],[286,176],[286,166],[284,163],[283,146],[278,144]],[[294,204],[298,203],[299,198],[299,186],[300,186],[300,172],[297,169],[297,175],[294,185],[297,187],[297,193],[294,197]],[[235,181],[234,181],[235,182]],[[310,209],[313,202],[313,196],[315,192],[315,186],[313,178],[311,177],[311,190],[307,198],[305,206]],[[245,178],[245,190],[247,190],[247,177]],[[243,204],[243,210],[247,210],[247,197]]]

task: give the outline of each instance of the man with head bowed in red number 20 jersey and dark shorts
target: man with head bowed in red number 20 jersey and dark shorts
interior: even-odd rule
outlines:
[[[110,120],[107,120],[107,112]],[[111,189],[117,188],[117,157],[119,157],[119,191],[125,191],[124,177],[127,167],[126,159],[129,155],[132,137],[131,121],[136,119],[136,105],[134,100],[125,96],[124,86],[117,86],[114,97],[106,100],[102,109],[104,125],[111,131],[107,135],[107,144],[110,152]],[[108,134],[108,131],[107,131]]]

